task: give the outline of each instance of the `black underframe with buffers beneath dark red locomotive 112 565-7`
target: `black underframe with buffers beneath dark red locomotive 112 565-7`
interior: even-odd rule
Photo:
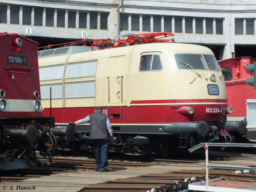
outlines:
[[[72,140],[74,128],[54,128],[54,117],[2,117],[0,118],[0,159],[13,161],[24,158],[45,165],[36,158],[35,151],[49,157],[57,144],[56,136]],[[6,169],[6,167],[0,167]]]

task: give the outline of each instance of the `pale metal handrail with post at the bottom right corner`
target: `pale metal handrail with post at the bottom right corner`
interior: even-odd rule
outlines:
[[[189,152],[193,152],[195,150],[198,150],[199,148],[205,149],[205,186],[201,186],[200,189],[197,188],[193,184],[188,185],[189,190],[205,190],[206,192],[209,189],[209,175],[208,175],[208,169],[209,168],[216,168],[216,169],[233,169],[233,170],[252,170],[256,171],[256,167],[244,167],[244,166],[224,166],[224,165],[210,165],[208,164],[208,147],[209,146],[220,146],[220,147],[256,147],[256,144],[247,144],[247,143],[200,143],[190,149]],[[190,186],[190,187],[189,187]]]

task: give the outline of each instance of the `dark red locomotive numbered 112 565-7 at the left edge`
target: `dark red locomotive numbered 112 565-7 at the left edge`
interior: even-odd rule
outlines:
[[[0,161],[12,162],[0,163],[0,169],[11,169],[19,167],[17,159],[39,162],[35,150],[50,156],[54,134],[61,131],[55,130],[54,117],[42,117],[38,43],[6,32],[0,41]]]

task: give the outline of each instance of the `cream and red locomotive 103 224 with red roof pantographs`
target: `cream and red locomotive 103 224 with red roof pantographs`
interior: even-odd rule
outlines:
[[[81,49],[87,51],[78,53],[70,52],[78,46],[39,51],[43,115],[49,115],[51,103],[56,125],[65,126],[100,105],[115,137],[109,149],[128,154],[166,156],[200,142],[234,142],[236,134],[244,134],[245,121],[226,122],[232,109],[212,51],[159,35],[173,34],[83,40]],[[91,150],[89,124],[75,129],[76,141]]]

